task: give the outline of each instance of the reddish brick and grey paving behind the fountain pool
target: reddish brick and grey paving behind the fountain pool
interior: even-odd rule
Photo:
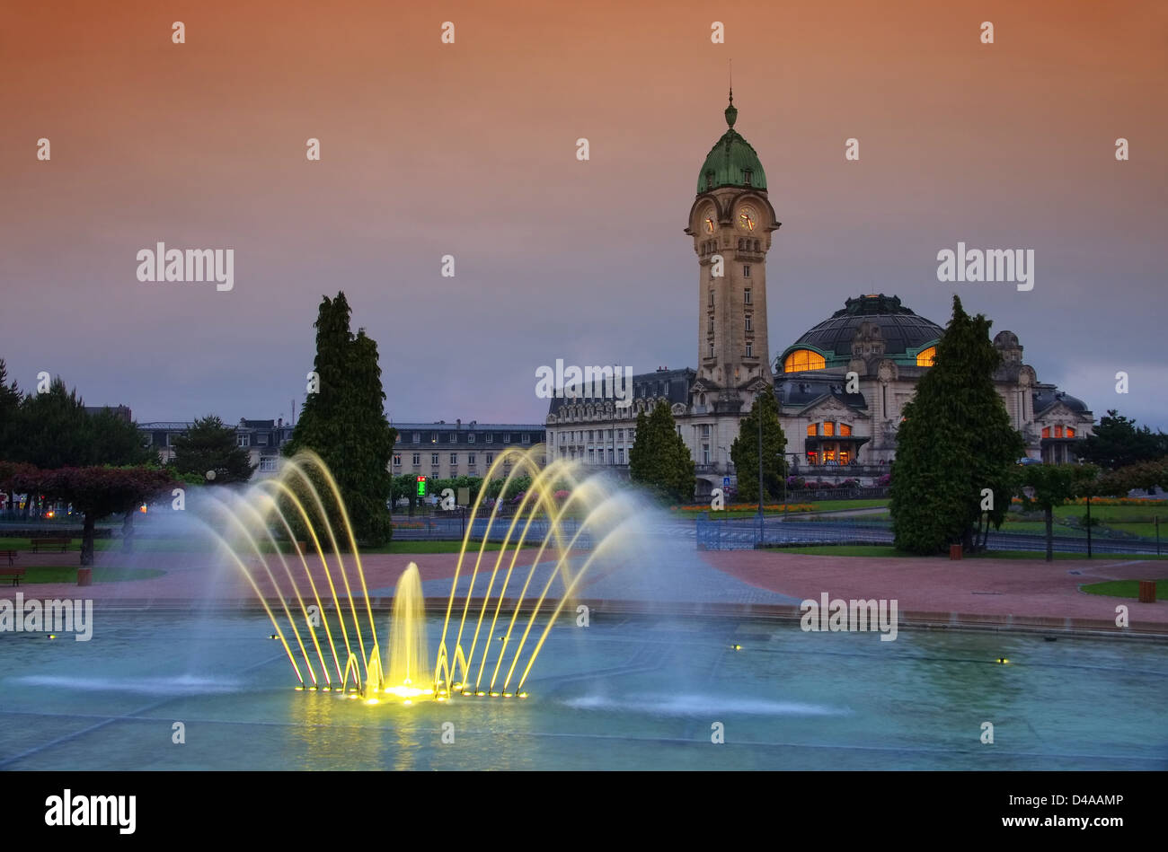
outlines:
[[[806,598],[819,599],[827,592],[832,598],[896,599],[901,612],[961,613],[985,616],[1062,617],[1113,621],[1115,606],[1129,607],[1133,621],[1168,626],[1168,601],[1139,603],[1090,595],[1080,592],[1080,584],[1112,579],[1157,579],[1168,575],[1168,565],[1124,558],[1096,560],[1059,560],[1048,564],[1029,559],[967,559],[952,563],[938,559],[897,559],[867,557],[830,557],[784,553],[781,551],[696,552],[693,543],[654,543],[641,560],[621,563],[598,558],[577,591],[578,598],[610,601],[639,601],[644,603],[724,603],[724,605],[797,605]],[[520,556],[510,592],[517,592],[519,577],[526,577],[535,551]],[[575,554],[579,564],[589,554]],[[495,552],[484,556],[481,572],[494,567]],[[84,596],[98,602],[144,603],[248,603],[253,591],[232,565],[225,565],[211,554],[200,553],[138,553],[125,557],[118,552],[98,554],[98,564],[120,567],[160,568],[162,577],[147,580],[96,584],[84,589]],[[76,564],[77,554],[21,553],[18,564],[34,565]],[[370,596],[392,594],[397,578],[412,561],[418,565],[423,589],[427,598],[444,598],[450,591],[458,560],[457,553],[368,554],[362,557]],[[509,564],[508,556],[503,567]],[[248,560],[257,571],[257,585],[266,593],[271,584],[264,577],[258,560]],[[310,594],[303,580],[299,559],[291,558],[301,593]],[[327,596],[325,573],[320,560],[308,559],[321,595]],[[347,561],[347,565],[352,565]],[[286,579],[278,560],[272,570],[285,588]],[[470,585],[468,560],[459,580],[459,593]],[[536,568],[534,594],[538,594],[551,571],[544,560]],[[1077,574],[1071,572],[1079,572]],[[334,571],[334,582],[343,596],[343,584]],[[356,587],[356,574],[350,570],[350,584]],[[501,582],[501,575],[500,575]],[[486,575],[480,573],[475,595],[486,588]],[[552,585],[552,594],[562,586]],[[26,598],[76,598],[82,589],[75,584],[22,582],[19,588],[0,585],[0,596],[12,598],[23,592]]]

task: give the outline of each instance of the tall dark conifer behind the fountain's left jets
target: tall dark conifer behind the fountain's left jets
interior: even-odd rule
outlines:
[[[284,454],[312,449],[320,455],[336,479],[356,537],[378,546],[394,535],[389,461],[397,430],[385,417],[377,344],[364,329],[349,330],[349,313],[343,292],[322,298],[314,324],[319,387],[305,400]],[[335,510],[333,519],[339,519]]]

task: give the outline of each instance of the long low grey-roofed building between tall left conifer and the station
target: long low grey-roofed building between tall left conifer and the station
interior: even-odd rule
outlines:
[[[529,449],[543,441],[542,424],[498,424],[471,420],[464,424],[395,422],[397,442],[390,470],[394,475],[412,474],[431,480],[456,476],[485,476],[495,456],[508,447]],[[538,461],[543,461],[541,456]],[[505,466],[502,475],[510,472]]]

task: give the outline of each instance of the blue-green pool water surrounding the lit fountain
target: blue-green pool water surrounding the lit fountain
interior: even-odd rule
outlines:
[[[294,691],[270,633],[98,612],[88,643],[0,634],[0,768],[1168,768],[1159,643],[593,615],[552,630],[527,700],[406,707]]]

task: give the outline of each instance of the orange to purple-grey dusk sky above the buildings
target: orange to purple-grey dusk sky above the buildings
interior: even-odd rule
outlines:
[[[557,358],[696,366],[683,229],[731,58],[783,222],[772,359],[849,296],[944,326],[957,293],[1041,382],[1168,430],[1161,0],[13,0],[0,357],[139,421],[287,418],[343,289],[395,421],[541,422]],[[159,242],[234,249],[234,289],[139,281]],[[939,282],[958,242],[1033,249],[1034,289]]]

